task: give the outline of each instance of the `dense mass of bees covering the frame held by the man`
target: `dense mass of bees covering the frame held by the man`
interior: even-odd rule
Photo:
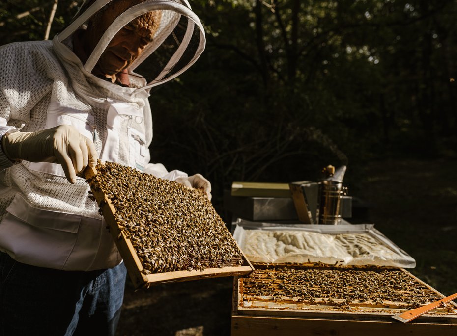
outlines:
[[[113,204],[117,225],[132,242],[144,273],[243,263],[235,240],[200,190],[113,162],[99,161],[96,169],[87,182]]]

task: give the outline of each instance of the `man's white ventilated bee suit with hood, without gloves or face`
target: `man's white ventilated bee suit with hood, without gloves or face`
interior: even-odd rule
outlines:
[[[53,41],[0,47],[0,136],[25,124],[34,132],[72,125],[92,139],[102,161],[113,161],[174,180],[187,176],[149,163],[152,140],[149,90],[175,78],[204,49],[203,27],[187,1],[148,0],[114,20],[85,64],[72,36],[110,0],[95,1]],[[132,63],[130,87],[91,74],[113,36],[134,18],[161,10],[154,40]],[[156,56],[157,55],[157,56]],[[146,62],[147,61],[147,62]],[[145,68],[149,78],[135,74]],[[0,251],[17,261],[63,270],[94,270],[121,262],[97,205],[82,178],[67,182],[57,163],[22,161],[11,166],[0,150]]]

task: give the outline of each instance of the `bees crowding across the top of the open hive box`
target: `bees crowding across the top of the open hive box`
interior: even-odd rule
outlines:
[[[406,303],[415,308],[441,299],[407,272],[376,266],[269,266],[240,278],[240,288],[243,300],[267,297],[275,301],[291,300],[343,309],[360,303],[380,308]]]

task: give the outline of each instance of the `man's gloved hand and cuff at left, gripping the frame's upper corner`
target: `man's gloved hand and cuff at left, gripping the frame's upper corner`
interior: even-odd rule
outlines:
[[[70,125],[59,125],[38,132],[6,133],[3,151],[11,160],[58,162],[70,183],[87,166],[97,165],[97,151],[91,140]]]

